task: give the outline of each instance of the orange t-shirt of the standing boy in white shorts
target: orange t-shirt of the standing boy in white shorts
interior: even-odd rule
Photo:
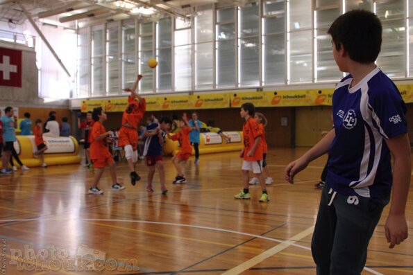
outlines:
[[[262,145],[258,144],[252,157],[248,157],[248,152],[253,148],[255,139],[262,136],[262,129],[254,118],[248,118],[242,127],[242,134],[244,134],[244,160],[246,161],[261,161],[262,160]]]

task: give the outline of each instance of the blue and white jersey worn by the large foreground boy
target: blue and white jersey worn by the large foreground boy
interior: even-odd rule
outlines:
[[[387,197],[393,178],[385,139],[407,132],[405,103],[378,68],[349,88],[352,80],[343,78],[332,96],[335,139],[326,182],[344,195]]]

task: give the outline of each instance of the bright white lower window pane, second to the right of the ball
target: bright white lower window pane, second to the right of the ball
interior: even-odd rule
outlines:
[[[175,91],[192,89],[191,48],[190,45],[175,48]]]

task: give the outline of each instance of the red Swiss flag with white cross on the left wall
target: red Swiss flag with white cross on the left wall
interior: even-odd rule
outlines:
[[[22,87],[22,51],[0,47],[0,86]]]

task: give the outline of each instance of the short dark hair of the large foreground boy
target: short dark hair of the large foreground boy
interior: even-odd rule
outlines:
[[[341,45],[351,60],[360,63],[375,62],[382,44],[380,19],[367,10],[351,10],[332,22],[327,33],[337,51]]]

